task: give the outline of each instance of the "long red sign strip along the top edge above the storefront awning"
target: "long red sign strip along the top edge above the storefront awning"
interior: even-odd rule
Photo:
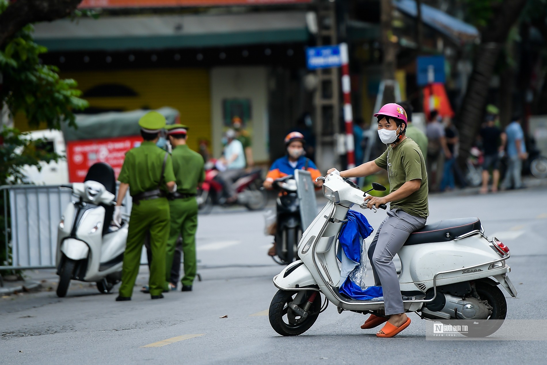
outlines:
[[[83,0],[80,8],[213,7],[310,3],[311,0]]]

